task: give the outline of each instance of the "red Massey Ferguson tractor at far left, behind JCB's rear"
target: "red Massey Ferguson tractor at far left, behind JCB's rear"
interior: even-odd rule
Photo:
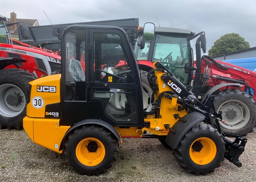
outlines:
[[[60,72],[60,56],[10,39],[6,26],[22,22],[5,22],[9,20],[0,15],[0,128],[19,129],[26,115],[28,83]],[[28,37],[26,25],[19,28],[23,38]]]

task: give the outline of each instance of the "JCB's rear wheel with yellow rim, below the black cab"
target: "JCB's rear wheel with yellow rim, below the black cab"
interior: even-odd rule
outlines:
[[[79,174],[98,175],[112,167],[118,147],[112,132],[102,126],[85,125],[69,134],[64,155],[67,163]]]

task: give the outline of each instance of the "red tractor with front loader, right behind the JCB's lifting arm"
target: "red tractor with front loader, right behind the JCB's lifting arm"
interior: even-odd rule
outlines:
[[[208,94],[214,94],[216,110],[223,113],[224,121],[220,122],[220,126],[226,135],[245,136],[256,126],[256,73],[215,61],[209,56],[201,58],[198,44],[196,60],[200,61],[193,61],[190,40],[202,33],[204,32],[195,34],[185,29],[155,27],[155,37],[151,42],[144,41],[139,33],[134,51],[141,70],[144,110],[150,111],[153,108],[151,103],[154,93],[147,81],[147,74],[153,69],[153,63],[159,61],[186,85],[187,90],[192,90],[199,100],[203,101]],[[204,41],[206,45],[206,40]],[[205,53],[206,48],[202,49]],[[114,71],[120,70],[124,64],[125,62],[120,61]],[[201,73],[196,74],[196,70]],[[122,98],[116,101],[116,105],[122,107],[119,103],[122,103]]]

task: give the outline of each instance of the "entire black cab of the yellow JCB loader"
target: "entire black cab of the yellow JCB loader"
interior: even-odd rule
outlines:
[[[95,118],[113,126],[143,126],[141,81],[123,29],[71,25],[62,36],[62,124]],[[120,70],[114,67],[124,62]]]

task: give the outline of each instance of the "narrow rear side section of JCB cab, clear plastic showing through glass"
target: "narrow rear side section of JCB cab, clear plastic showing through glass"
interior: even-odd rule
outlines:
[[[88,44],[85,28],[67,29],[62,38],[62,125],[73,125],[86,119],[88,90]]]

